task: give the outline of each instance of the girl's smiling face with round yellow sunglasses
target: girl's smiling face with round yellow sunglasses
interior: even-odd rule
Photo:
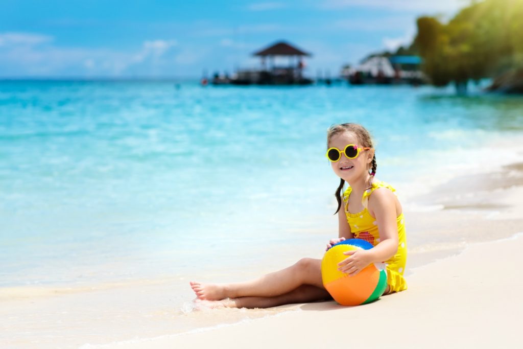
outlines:
[[[343,132],[336,134],[331,142],[328,144],[329,148],[338,148],[344,150],[347,144],[356,144],[358,148],[363,148],[363,145],[358,141],[356,134],[353,132]],[[346,182],[355,182],[358,178],[365,176],[369,173],[369,166],[374,156],[374,149],[359,152],[359,155],[355,159],[349,159],[345,154],[336,161],[331,162],[332,170],[334,173],[345,179]]]

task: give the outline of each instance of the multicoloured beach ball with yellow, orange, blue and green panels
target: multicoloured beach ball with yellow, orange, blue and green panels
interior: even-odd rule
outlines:
[[[340,241],[325,252],[322,260],[323,286],[335,301],[343,306],[357,306],[372,302],[387,287],[384,263],[372,263],[355,276],[338,271],[338,263],[350,257],[346,251],[370,250],[372,244],[361,239]]]

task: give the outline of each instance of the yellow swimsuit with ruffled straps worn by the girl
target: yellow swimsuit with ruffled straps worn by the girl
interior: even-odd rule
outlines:
[[[380,233],[378,232],[378,225],[376,218],[372,217],[367,209],[369,202],[369,196],[372,192],[378,188],[388,188],[392,192],[396,189],[391,187],[389,184],[381,181],[375,181],[372,183],[372,187],[363,192],[361,203],[363,204],[363,211],[359,213],[350,213],[348,211],[349,195],[352,191],[351,187],[343,193],[343,201],[345,202],[344,209],[347,221],[349,222],[350,231],[354,233],[355,239],[362,239],[370,242],[373,246],[376,246],[380,242]],[[405,263],[407,261],[407,245],[405,236],[405,221],[403,219],[403,213],[397,217],[397,232],[398,232],[398,246],[396,254],[385,261],[387,271],[387,284],[390,286],[390,292],[399,292],[407,289],[407,283],[403,277],[405,272]]]

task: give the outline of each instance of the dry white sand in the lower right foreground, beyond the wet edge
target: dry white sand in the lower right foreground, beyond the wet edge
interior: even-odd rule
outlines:
[[[407,291],[366,306],[308,303],[276,317],[108,347],[521,347],[521,251],[523,234],[473,244],[415,269]]]

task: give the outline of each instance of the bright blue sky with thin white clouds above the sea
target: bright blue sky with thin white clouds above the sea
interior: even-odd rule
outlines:
[[[259,64],[287,40],[308,73],[395,49],[419,15],[448,17],[467,0],[2,0],[0,77],[199,77]]]

